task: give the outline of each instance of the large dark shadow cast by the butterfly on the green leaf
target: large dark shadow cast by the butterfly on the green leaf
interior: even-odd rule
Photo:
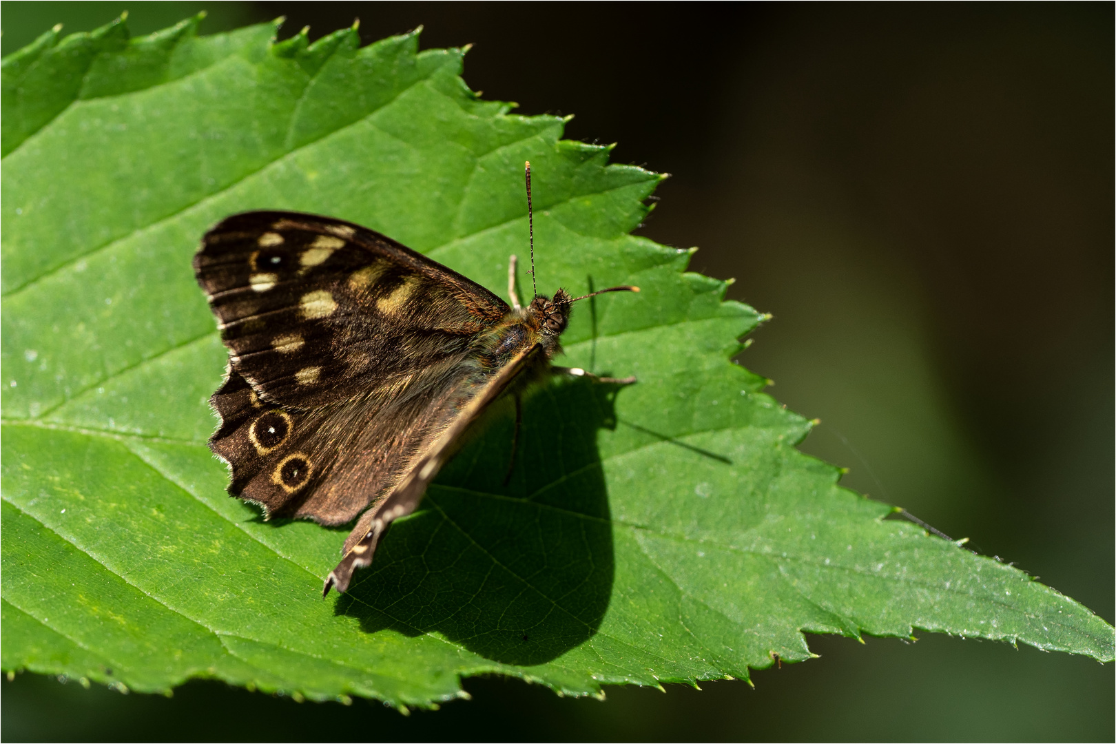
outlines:
[[[593,637],[614,572],[597,433],[615,426],[620,389],[562,376],[533,388],[510,477],[513,400],[494,405],[335,611],[525,666]]]

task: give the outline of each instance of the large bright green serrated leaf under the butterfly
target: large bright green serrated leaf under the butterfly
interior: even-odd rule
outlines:
[[[483,102],[456,49],[123,23],[3,60],[2,666],[165,690],[209,676],[425,706],[501,673],[566,694],[747,677],[802,631],[915,628],[1113,658],[1113,628],[837,484],[811,424],[729,359],[763,317],[628,234],[661,176]],[[336,215],[502,293],[536,174],[555,379],[443,471],[343,598],[343,531],[264,523],[205,447],[225,354],[190,259],[249,209]]]

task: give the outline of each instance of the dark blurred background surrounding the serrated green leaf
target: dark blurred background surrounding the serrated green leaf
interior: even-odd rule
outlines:
[[[57,21],[193,2],[4,2],[9,54]],[[1114,605],[1114,6],[215,2],[203,32],[285,15],[474,42],[465,79],[673,174],[642,234],[775,319],[741,355],[822,425],[845,483]],[[195,682],[173,698],[23,674],[18,740],[1105,740],[1113,666],[922,634],[811,637],[822,658],[608,700],[473,678],[403,717]]]

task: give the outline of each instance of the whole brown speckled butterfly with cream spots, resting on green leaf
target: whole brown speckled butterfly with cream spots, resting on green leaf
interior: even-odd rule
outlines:
[[[525,170],[531,281],[535,225]],[[229,493],[264,519],[356,520],[326,578],[348,589],[372,564],[387,526],[412,513],[462,435],[494,400],[516,399],[546,374],[598,380],[550,365],[573,298],[516,293],[511,306],[480,284],[378,232],[298,212],[234,214],[205,233],[193,261],[229,350],[210,404],[209,446],[231,468]],[[509,474],[511,472],[509,465]]]

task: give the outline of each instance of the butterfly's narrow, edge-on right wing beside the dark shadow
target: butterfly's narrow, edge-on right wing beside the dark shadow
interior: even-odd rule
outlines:
[[[477,388],[464,405],[453,412],[453,416],[446,419],[441,431],[431,438],[430,444],[412,460],[411,468],[398,484],[382,501],[360,515],[345,541],[345,557],[326,578],[323,597],[329,593],[331,587],[336,587],[339,592],[346,591],[354,571],[372,566],[376,545],[388,524],[419,506],[426,486],[453,454],[454,445],[461,439],[461,435],[525,368],[543,357],[542,347],[539,345],[520,351],[483,386]]]

